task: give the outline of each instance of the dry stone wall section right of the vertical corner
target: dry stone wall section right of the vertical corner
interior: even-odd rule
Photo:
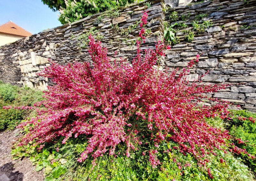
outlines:
[[[169,16],[178,12],[178,19],[171,21]],[[187,35],[183,30],[192,29],[196,16],[207,14],[198,24],[210,20],[212,26],[204,33],[196,33],[191,43],[184,41]],[[183,21],[182,15],[188,19]],[[194,6],[181,6],[170,9],[165,14],[170,24],[185,23],[176,36],[180,43],[166,52],[166,65],[170,68],[186,67],[196,54],[202,54],[198,64],[191,69],[188,80],[197,79],[207,71],[202,80],[207,83],[231,83],[225,90],[212,94],[238,103],[243,108],[256,112],[256,1],[213,0]],[[239,83],[239,84],[238,84]]]

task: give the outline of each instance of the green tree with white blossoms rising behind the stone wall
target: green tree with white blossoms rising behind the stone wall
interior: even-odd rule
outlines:
[[[42,0],[53,11],[60,11],[62,24],[72,23],[92,14],[125,6],[134,0]]]

